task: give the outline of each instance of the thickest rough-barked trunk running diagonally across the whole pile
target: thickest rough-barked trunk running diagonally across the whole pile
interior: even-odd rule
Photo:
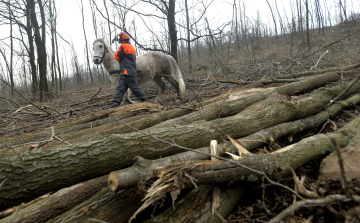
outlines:
[[[238,138],[319,112],[347,86],[319,89],[311,97],[294,102],[269,99],[235,116],[188,126],[153,129],[150,133],[184,147],[199,148],[226,135]],[[356,83],[344,97],[359,89],[360,83]],[[1,157],[0,182],[5,179],[6,182],[0,191],[0,209],[126,167],[134,162],[133,157],[136,156],[156,159],[182,151],[177,147],[167,147],[168,144],[152,140],[142,133],[99,134],[90,139],[87,136],[79,138],[72,145]]]

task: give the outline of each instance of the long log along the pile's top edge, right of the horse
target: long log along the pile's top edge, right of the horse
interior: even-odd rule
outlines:
[[[317,77],[311,77],[303,81],[288,84],[286,86],[273,88],[260,94],[252,95],[246,98],[240,98],[233,101],[216,103],[205,107],[204,109],[185,115],[180,118],[168,120],[152,128],[170,127],[176,125],[188,125],[200,120],[214,120],[220,117],[235,115],[250,105],[262,101],[275,92],[281,92],[287,95],[294,95],[300,92],[308,91],[316,87],[322,86],[327,82],[337,81],[339,75],[336,73],[327,73]]]

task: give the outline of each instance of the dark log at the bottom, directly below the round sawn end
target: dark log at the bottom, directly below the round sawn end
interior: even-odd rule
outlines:
[[[109,188],[104,188],[87,201],[47,223],[89,222],[89,219],[123,223],[127,222],[140,206],[141,196],[135,189],[114,193]]]

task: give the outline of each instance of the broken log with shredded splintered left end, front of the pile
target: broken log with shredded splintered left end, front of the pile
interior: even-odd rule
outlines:
[[[280,180],[291,174],[291,169],[297,169],[307,162],[330,154],[334,150],[330,137],[336,140],[340,148],[344,148],[359,133],[360,115],[334,133],[308,137],[271,154],[252,154],[243,159],[233,161],[242,165],[242,167],[226,161],[194,161],[175,164],[153,170],[143,184],[151,184],[151,182],[155,182],[160,178],[169,179],[168,173],[171,174],[171,179],[176,179],[177,182],[180,182],[177,185],[181,185],[181,189],[193,187],[194,181],[197,185],[260,182],[263,177],[262,174],[258,174],[248,168],[263,172],[273,180]],[[178,171],[178,174],[175,176],[174,172],[176,171]],[[167,184],[161,185],[161,189],[157,189],[157,193],[166,194],[161,191],[170,192],[178,190],[178,186],[172,188],[173,183],[172,180],[168,180]],[[152,190],[156,190],[156,188],[152,188]],[[148,199],[151,199],[151,197]]]

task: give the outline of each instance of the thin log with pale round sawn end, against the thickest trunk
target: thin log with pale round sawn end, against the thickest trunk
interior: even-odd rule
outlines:
[[[300,119],[290,123],[282,123],[274,127],[263,129],[250,136],[240,138],[239,141],[241,141],[247,150],[252,151],[257,147],[264,145],[265,142],[272,143],[282,137],[289,135],[293,136],[297,133],[317,128],[322,123],[325,123],[330,118],[339,114],[342,109],[354,106],[358,103],[360,103],[360,95],[353,96],[344,102],[334,104],[325,111],[321,111],[320,113],[316,114],[315,116],[308,117],[306,119]],[[232,146],[231,142],[219,144],[220,156],[226,155],[226,150],[229,150],[228,152],[237,154],[237,149]],[[196,149],[196,151],[210,154],[210,148],[208,146]],[[113,191],[135,187],[142,179],[145,179],[146,175],[152,169],[170,164],[186,162],[189,160],[208,160],[209,158],[210,157],[208,155],[191,151],[157,160],[146,160],[141,157],[136,157],[133,166],[111,172],[108,178],[108,185]]]

